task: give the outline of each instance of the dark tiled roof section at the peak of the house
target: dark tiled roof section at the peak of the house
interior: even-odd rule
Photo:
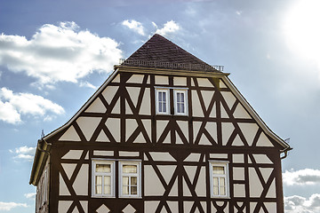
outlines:
[[[220,72],[203,60],[196,58],[164,36],[155,34],[140,49],[122,63],[130,67],[160,67]]]

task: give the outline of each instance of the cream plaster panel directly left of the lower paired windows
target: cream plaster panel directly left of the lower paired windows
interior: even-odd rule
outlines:
[[[75,189],[76,195],[88,195],[88,176],[89,165],[83,164],[73,184],[73,188]]]

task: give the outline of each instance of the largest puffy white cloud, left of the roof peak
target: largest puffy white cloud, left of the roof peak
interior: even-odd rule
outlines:
[[[38,83],[77,83],[94,71],[112,71],[122,51],[119,43],[81,30],[75,22],[45,24],[28,40],[0,35],[0,66],[35,77]]]

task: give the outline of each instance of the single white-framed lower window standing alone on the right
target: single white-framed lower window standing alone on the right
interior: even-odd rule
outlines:
[[[228,162],[210,162],[212,197],[228,197]]]

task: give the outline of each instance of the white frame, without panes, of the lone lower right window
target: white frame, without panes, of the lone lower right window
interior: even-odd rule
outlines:
[[[213,167],[223,167],[225,174],[213,174]],[[212,198],[229,198],[229,172],[228,172],[228,162],[209,162],[209,172],[210,172],[210,193]],[[213,177],[219,178],[219,194],[213,193]],[[225,192],[226,194],[220,194],[220,177],[225,178]]]

